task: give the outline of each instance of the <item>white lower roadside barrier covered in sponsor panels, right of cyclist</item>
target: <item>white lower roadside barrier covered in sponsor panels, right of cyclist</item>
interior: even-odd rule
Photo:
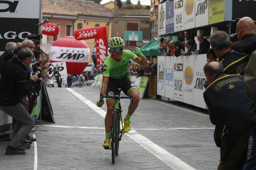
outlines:
[[[203,98],[206,63],[206,54],[157,56],[157,95],[206,109]]]

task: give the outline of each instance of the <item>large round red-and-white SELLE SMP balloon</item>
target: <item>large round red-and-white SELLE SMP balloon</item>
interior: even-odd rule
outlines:
[[[90,61],[90,50],[86,42],[78,41],[73,36],[58,38],[51,46],[51,62],[65,61],[67,72],[79,75]]]

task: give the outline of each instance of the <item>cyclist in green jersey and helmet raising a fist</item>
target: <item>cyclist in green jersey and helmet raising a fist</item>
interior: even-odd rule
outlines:
[[[133,112],[136,110],[139,104],[139,91],[135,84],[131,83],[130,78],[127,75],[129,59],[141,64],[144,67],[148,67],[147,58],[141,53],[139,47],[135,48],[135,52],[138,54],[136,56],[130,50],[123,50],[125,42],[120,37],[110,38],[109,48],[111,49],[112,54],[107,56],[104,65],[103,65],[103,80],[100,93],[103,95],[118,95],[118,88],[121,88],[122,91],[130,96],[133,95],[133,108],[128,107],[128,113],[124,119],[123,131],[125,133],[130,130],[130,117]],[[105,141],[103,147],[109,149],[110,147],[110,126],[112,124],[112,112],[114,106],[114,99],[107,98],[107,114],[105,116]],[[97,106],[101,107],[104,104],[104,101],[99,103],[97,101]]]

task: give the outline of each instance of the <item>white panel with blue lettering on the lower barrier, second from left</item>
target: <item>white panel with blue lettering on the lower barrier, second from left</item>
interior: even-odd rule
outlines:
[[[173,99],[173,56],[165,57],[165,97]]]

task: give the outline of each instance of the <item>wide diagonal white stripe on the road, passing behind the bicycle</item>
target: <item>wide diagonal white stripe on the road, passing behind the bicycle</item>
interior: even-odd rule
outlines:
[[[88,102],[86,98],[84,98],[79,93],[76,93],[71,88],[66,88],[68,91],[70,91],[73,95],[77,96],[79,99],[81,99],[84,103],[86,103],[89,107],[91,107],[94,111],[99,113],[102,117],[105,118],[106,112],[100,109],[100,107],[97,107],[95,104],[93,104],[91,101]],[[174,156],[173,154],[170,154],[165,149],[161,148],[157,144],[153,143],[143,135],[140,135],[135,130],[130,130],[130,132],[126,135],[128,135],[130,138],[132,138],[134,141],[136,141],[138,144],[143,146],[145,149],[147,149],[149,152],[154,154],[157,158],[165,162],[165,164],[169,165],[171,168],[175,170],[196,170],[195,168],[188,165],[186,162],[183,162],[178,157]]]

